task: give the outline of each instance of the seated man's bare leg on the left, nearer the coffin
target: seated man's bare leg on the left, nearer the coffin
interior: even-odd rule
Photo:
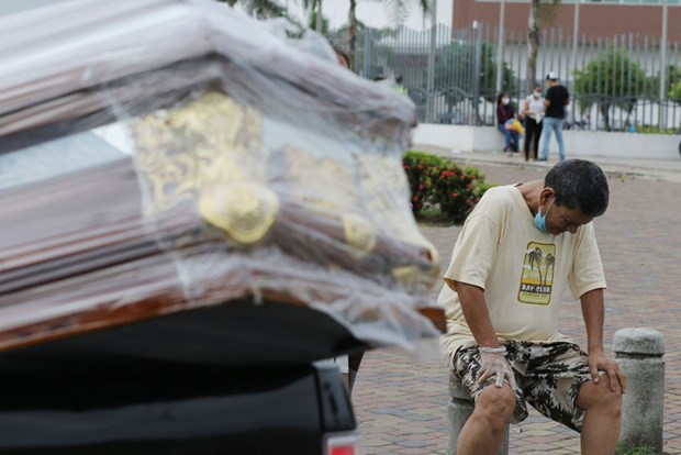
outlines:
[[[515,404],[515,393],[507,384],[501,388],[493,385],[485,387],[473,413],[461,429],[457,454],[496,455]]]

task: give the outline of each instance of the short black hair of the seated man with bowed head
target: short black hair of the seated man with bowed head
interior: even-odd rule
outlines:
[[[607,178],[596,164],[585,159],[558,163],[544,178],[544,186],[554,189],[558,206],[578,209],[587,217],[600,217],[607,209]]]

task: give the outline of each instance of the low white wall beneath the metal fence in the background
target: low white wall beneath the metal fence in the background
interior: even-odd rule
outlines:
[[[681,159],[681,135],[562,132],[568,157],[601,156],[611,158]],[[539,154],[542,153],[539,144]],[[502,151],[504,138],[493,126],[458,126],[423,123],[412,135],[413,144],[434,145],[462,152]],[[549,151],[558,153],[555,136]]]

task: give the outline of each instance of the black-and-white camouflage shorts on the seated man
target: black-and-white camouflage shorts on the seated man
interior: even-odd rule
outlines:
[[[527,418],[527,403],[547,418],[581,431],[583,411],[574,401],[582,384],[591,380],[587,353],[573,343],[504,342],[506,359],[515,374],[517,406],[512,422]],[[488,379],[477,385],[480,370],[478,346],[457,351],[454,358],[454,374],[478,400],[482,389],[494,382]]]

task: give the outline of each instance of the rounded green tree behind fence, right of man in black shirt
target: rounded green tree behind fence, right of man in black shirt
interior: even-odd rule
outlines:
[[[574,71],[574,91],[581,108],[587,110],[598,104],[606,131],[611,131],[611,109],[618,107],[630,114],[636,101],[645,97],[648,84],[644,69],[616,48],[602,53],[583,70]],[[628,120],[623,129],[626,126]]]

